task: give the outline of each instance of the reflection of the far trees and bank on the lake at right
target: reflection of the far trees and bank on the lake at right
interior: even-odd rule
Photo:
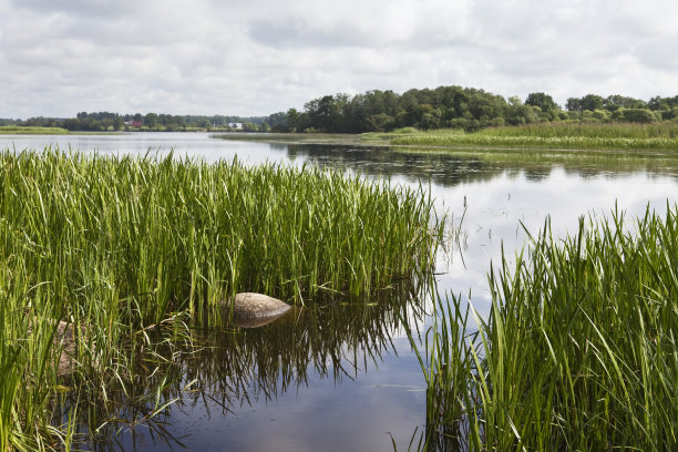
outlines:
[[[408,151],[329,144],[271,146],[286,148],[292,161],[305,157],[318,165],[339,166],[370,176],[404,176],[412,182],[431,179],[442,186],[486,182],[504,173],[510,176],[524,174],[528,181],[538,182],[546,179],[555,168],[583,178],[637,172],[678,175],[678,158],[674,156],[628,152]]]

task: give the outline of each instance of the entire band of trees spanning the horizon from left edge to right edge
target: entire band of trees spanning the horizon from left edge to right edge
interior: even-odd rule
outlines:
[[[314,99],[302,111],[269,116],[201,116],[147,113],[81,112],[71,119],[31,117],[1,120],[1,125],[63,127],[69,131],[243,131],[243,132],[388,132],[399,127],[463,129],[542,122],[633,122],[678,121],[678,95],[644,101],[623,95],[603,97],[587,94],[571,97],[563,106],[551,95],[535,92],[521,100],[462,86],[434,90],[368,91],[363,94],[336,94]]]

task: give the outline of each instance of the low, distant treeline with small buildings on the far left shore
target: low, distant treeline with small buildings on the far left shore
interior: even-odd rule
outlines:
[[[236,124],[236,125],[230,125]],[[84,132],[105,132],[105,131],[157,131],[177,132],[193,130],[242,130],[242,131],[264,131],[270,130],[265,124],[265,117],[242,117],[242,116],[201,116],[201,115],[172,115],[141,113],[117,114],[111,112],[80,112],[75,117],[30,117],[28,120],[2,120],[2,125],[19,125],[34,127],[63,127],[69,131]]]

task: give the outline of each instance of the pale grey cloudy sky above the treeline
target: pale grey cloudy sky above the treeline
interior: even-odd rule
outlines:
[[[678,94],[676,0],[0,0],[0,117],[267,115],[462,85]]]

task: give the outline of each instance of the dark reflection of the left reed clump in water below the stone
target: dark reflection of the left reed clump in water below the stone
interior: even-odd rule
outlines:
[[[392,335],[404,325],[415,329],[409,323],[423,318],[421,294],[423,287],[402,281],[368,302],[326,300],[292,309],[263,328],[194,330],[181,347],[158,335],[151,356],[142,360],[141,350],[131,353],[137,355],[131,383],[123,388],[111,381],[105,402],[101,388],[66,394],[55,403],[56,418],[65,422],[80,399],[76,430],[86,448],[181,446],[186,432],[172,427],[177,410],[229,415],[299,391],[314,379],[340,383],[379,364],[394,351]],[[154,411],[174,399],[168,410]]]

